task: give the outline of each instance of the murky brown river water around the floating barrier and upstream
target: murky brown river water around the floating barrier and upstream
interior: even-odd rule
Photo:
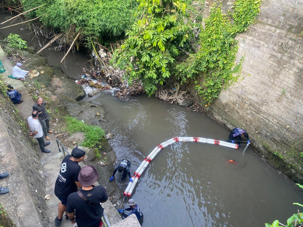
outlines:
[[[0,21],[4,18],[1,15]],[[17,33],[40,49],[37,38],[20,28],[25,27],[0,32]],[[45,50],[42,55],[70,76],[80,74],[89,59],[81,52],[69,54],[64,67],[60,64],[64,51]],[[131,161],[132,173],[155,146],[173,136],[228,138],[229,131],[209,117],[153,97],[140,95],[122,102],[107,91],[93,99],[105,108],[107,122],[101,126],[114,133],[109,142],[118,160]],[[143,226],[265,226],[275,219],[286,224],[299,208],[292,203],[303,203],[303,192],[251,149],[242,156],[243,149],[178,142],[161,150],[132,193],[144,214]],[[231,159],[237,164],[226,163]],[[123,192],[128,181],[121,183],[116,176]]]

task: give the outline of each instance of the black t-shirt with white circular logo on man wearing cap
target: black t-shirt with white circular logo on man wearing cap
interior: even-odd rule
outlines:
[[[67,155],[63,159],[60,172],[55,183],[55,195],[60,200],[67,200],[69,194],[77,192],[78,175],[81,167],[77,162],[70,160],[72,155]]]

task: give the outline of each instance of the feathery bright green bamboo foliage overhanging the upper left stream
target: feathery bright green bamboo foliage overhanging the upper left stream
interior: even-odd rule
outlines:
[[[24,11],[45,4],[26,15],[41,16],[43,25],[64,33],[81,30],[87,42],[95,37],[124,35],[138,7],[135,0],[22,0],[22,4]]]

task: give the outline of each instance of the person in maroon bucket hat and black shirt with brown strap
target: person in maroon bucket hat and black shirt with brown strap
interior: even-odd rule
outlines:
[[[102,185],[94,185],[98,176],[94,166],[84,166],[78,176],[82,189],[68,196],[65,212],[72,223],[77,222],[78,227],[102,225],[101,217],[104,209],[100,202],[106,202],[108,195]],[[75,210],[76,216],[74,216]]]

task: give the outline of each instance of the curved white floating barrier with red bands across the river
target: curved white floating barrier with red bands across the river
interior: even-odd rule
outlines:
[[[138,167],[134,175],[132,176],[133,182],[129,182],[128,186],[125,189],[125,192],[123,193],[123,196],[130,197],[132,194],[132,191],[135,189],[135,186],[142,175],[145,168],[148,166],[148,164],[155,158],[155,156],[165,147],[175,143],[175,142],[198,142],[198,143],[209,143],[219,146],[225,146],[233,149],[238,149],[238,144],[235,143],[228,143],[221,140],[214,140],[214,139],[207,139],[207,138],[201,138],[201,137],[173,137],[170,140],[167,140],[163,143],[160,143],[158,146],[155,147],[154,150],[151,151],[151,153],[143,160],[141,165]]]

